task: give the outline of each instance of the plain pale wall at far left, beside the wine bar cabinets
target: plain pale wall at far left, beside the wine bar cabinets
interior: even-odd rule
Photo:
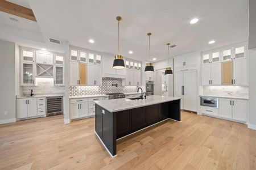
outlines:
[[[3,124],[16,120],[14,42],[0,40],[0,60],[0,124]]]

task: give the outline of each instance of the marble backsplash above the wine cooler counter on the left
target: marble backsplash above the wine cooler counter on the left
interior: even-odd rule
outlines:
[[[63,94],[65,91],[64,86],[54,86],[53,78],[36,78],[36,86],[22,86],[23,95],[30,94],[30,90],[33,90],[34,95],[45,94]]]

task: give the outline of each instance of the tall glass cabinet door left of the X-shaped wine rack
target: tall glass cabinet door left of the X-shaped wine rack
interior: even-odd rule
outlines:
[[[34,64],[22,63],[22,84],[35,84],[34,81]]]

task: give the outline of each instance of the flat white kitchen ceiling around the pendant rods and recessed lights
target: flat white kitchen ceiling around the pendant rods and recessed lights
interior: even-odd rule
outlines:
[[[14,2],[14,0],[12,0]],[[217,48],[248,39],[248,0],[15,0],[29,5],[44,40],[53,37],[71,45],[117,54],[117,21],[122,16],[121,54],[146,60],[167,57],[167,42],[176,44],[171,56]],[[192,18],[196,24],[189,24]],[[2,18],[0,18],[0,23]],[[95,41],[94,44],[88,42]],[[209,40],[216,40],[209,45]],[[133,54],[129,54],[133,50]]]

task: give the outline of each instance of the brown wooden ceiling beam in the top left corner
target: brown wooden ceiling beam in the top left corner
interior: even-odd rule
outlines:
[[[5,0],[0,0],[0,11],[8,14],[16,15],[22,18],[30,19],[36,22],[35,15],[30,8],[26,8],[15,3],[11,3]]]

